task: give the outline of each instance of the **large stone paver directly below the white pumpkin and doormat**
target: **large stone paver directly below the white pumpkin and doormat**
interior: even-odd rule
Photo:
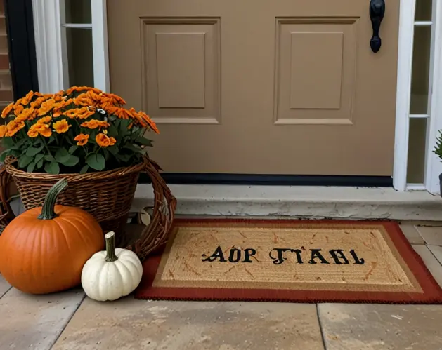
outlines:
[[[86,298],[54,350],[323,350],[314,304]]]

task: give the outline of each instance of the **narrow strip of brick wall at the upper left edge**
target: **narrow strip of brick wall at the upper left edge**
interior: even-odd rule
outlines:
[[[4,1],[0,0],[0,110],[13,101]]]

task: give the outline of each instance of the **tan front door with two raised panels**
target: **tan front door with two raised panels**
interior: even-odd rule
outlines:
[[[398,15],[374,53],[369,0],[108,0],[111,90],[168,173],[391,175]]]

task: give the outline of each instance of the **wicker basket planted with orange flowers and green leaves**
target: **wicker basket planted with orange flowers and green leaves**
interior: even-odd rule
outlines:
[[[155,123],[144,112],[125,109],[119,96],[73,87],[53,95],[28,93],[1,114],[0,228],[13,218],[8,183],[14,181],[25,208],[42,205],[61,178],[68,185],[57,203],[91,213],[103,231],[115,231],[119,246],[144,259],[167,240],[176,200],[145,147]],[[155,191],[152,222],[133,242],[124,236],[138,176],[147,173]]]

